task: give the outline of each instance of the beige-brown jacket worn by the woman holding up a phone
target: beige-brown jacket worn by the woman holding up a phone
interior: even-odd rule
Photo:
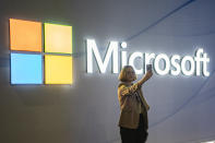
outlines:
[[[142,104],[136,99],[135,94],[139,95]],[[140,114],[143,114],[143,119],[145,120],[144,127],[146,129],[148,128],[147,110],[150,106],[143,97],[142,90],[139,87],[138,83],[133,85],[120,83],[118,86],[118,99],[121,109],[119,127],[136,129],[139,127]]]

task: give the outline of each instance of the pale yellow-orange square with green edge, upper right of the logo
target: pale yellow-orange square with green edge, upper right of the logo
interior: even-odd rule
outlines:
[[[45,52],[72,53],[72,26],[45,23]]]

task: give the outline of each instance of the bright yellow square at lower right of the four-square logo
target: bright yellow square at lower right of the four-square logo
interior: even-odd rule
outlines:
[[[45,84],[72,84],[72,57],[45,56]]]

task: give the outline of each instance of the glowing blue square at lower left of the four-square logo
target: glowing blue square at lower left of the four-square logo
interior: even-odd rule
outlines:
[[[11,53],[11,84],[43,84],[41,55]]]

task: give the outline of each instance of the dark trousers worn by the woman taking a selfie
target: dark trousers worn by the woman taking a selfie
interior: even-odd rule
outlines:
[[[143,116],[140,115],[138,129],[128,129],[120,127],[120,135],[122,143],[145,143],[147,140],[147,129],[144,127]]]

